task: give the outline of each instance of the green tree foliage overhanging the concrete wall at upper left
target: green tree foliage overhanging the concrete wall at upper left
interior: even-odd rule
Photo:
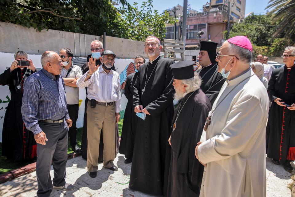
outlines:
[[[116,8],[114,5],[123,7]],[[0,21],[83,34],[144,40],[154,34],[163,38],[167,13],[151,11],[152,0],[138,8],[126,0],[0,0]]]

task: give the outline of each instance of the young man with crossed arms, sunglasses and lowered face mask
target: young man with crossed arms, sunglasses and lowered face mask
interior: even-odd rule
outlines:
[[[77,80],[82,76],[80,66],[73,65],[73,52],[69,48],[62,48],[59,56],[63,61],[64,67],[61,70],[61,76],[64,78],[65,91],[67,95],[67,108],[70,119],[73,121],[72,127],[69,128],[70,145],[75,153],[81,153],[81,148],[77,145],[77,126],[76,122],[79,113],[79,88]]]

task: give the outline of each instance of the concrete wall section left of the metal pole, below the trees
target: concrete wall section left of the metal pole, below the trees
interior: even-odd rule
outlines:
[[[70,48],[74,56],[90,54],[90,43],[101,40],[101,36],[71,33],[57,30],[38,32],[12,23],[0,22],[0,52],[15,53],[17,50],[28,54],[42,54],[46,50],[59,51]]]

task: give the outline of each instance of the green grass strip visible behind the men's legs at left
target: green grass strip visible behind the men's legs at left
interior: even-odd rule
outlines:
[[[122,133],[122,124],[123,124],[123,119],[120,120],[118,123],[119,127],[119,136],[121,136]],[[79,147],[81,147],[81,141],[82,141],[82,133],[83,133],[83,127],[78,128],[77,130],[77,144]],[[72,153],[72,147],[70,145],[70,139],[69,139],[69,145],[68,145],[68,154]],[[2,153],[2,143],[0,143],[0,155]],[[28,165],[32,163],[32,161],[24,161],[24,162],[13,162],[10,159],[7,159],[6,157],[0,156],[0,174],[3,174],[5,172],[9,172],[13,169],[23,167],[25,165]]]

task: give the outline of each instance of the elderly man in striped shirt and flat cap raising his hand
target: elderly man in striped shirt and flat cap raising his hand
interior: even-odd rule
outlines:
[[[115,124],[120,120],[120,76],[112,70],[116,55],[105,50],[101,53],[100,62],[89,59],[89,71],[77,80],[77,86],[87,87],[87,170],[90,177],[96,177],[98,169],[100,132],[103,132],[104,167],[112,171],[118,168],[115,159]]]

